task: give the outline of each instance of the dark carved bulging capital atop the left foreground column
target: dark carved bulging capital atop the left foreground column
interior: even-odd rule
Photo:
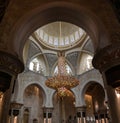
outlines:
[[[24,65],[15,56],[0,51],[0,70],[16,75],[24,70]]]

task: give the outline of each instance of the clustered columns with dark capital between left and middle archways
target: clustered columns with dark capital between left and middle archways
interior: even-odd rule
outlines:
[[[52,123],[52,111],[53,108],[44,108],[44,123]]]

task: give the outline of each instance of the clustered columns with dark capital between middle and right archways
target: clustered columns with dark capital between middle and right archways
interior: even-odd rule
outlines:
[[[77,123],[86,123],[86,106],[77,107]]]

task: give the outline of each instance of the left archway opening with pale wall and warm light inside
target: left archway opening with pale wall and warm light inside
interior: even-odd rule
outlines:
[[[39,122],[43,122],[43,90],[36,84],[31,84],[24,90],[23,96],[24,107],[30,108],[29,119],[37,118]]]

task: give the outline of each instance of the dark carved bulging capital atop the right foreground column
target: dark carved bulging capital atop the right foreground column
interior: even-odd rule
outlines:
[[[92,64],[100,72],[120,64],[120,43],[111,44],[100,50],[95,54]]]

